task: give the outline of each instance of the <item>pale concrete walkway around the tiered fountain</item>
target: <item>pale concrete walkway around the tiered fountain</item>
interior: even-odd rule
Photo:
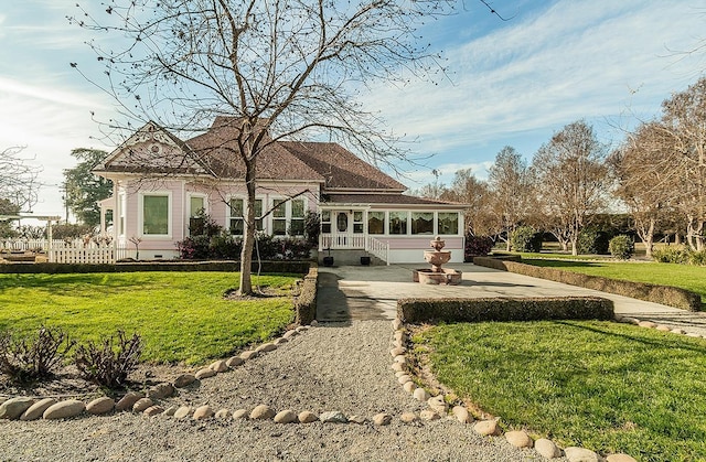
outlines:
[[[706,313],[650,303],[545,279],[494,270],[471,264],[448,265],[463,272],[459,286],[422,286],[413,271],[425,265],[344,266],[319,268],[317,319],[321,322],[393,320],[402,298],[569,297],[610,299],[616,314],[650,320],[706,336]]]

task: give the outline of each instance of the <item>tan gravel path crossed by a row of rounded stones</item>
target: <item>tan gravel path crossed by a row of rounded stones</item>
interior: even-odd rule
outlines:
[[[167,405],[208,404],[214,410],[339,410],[393,423],[277,425],[272,421],[175,420],[131,413],[69,421],[0,421],[0,460],[130,461],[524,461],[503,437],[483,438],[456,420],[405,425],[404,411],[422,405],[391,369],[388,321],[322,324],[235,370],[181,390]],[[560,459],[559,459],[560,460]]]

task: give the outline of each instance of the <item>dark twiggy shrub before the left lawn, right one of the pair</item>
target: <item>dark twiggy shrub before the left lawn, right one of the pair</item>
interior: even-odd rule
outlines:
[[[89,342],[76,348],[76,367],[82,377],[108,388],[125,385],[128,374],[137,368],[142,354],[142,340],[136,333],[128,339],[118,331],[117,346],[115,337],[104,340],[103,344]]]

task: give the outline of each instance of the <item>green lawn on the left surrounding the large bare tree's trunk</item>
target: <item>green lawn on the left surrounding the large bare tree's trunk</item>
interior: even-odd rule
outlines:
[[[0,275],[0,330],[60,326],[77,341],[121,329],[142,336],[142,359],[202,364],[261,342],[293,320],[290,288],[298,278],[263,276],[284,297],[228,301],[236,272]]]

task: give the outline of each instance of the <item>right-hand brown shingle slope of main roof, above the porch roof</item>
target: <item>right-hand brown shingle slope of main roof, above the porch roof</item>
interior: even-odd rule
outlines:
[[[323,176],[327,190],[403,192],[407,189],[340,144],[303,141],[282,141],[280,144]]]

